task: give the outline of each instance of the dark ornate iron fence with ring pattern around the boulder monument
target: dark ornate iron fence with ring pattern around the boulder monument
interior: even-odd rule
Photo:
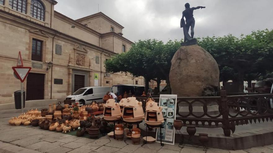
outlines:
[[[137,99],[142,101],[145,110],[147,98]],[[230,130],[235,132],[235,125],[272,121],[272,99],[271,94],[227,96],[225,90],[216,97],[177,97],[176,119],[182,120],[185,126],[222,127],[224,134],[230,136]],[[159,102],[159,97],[154,100]]]

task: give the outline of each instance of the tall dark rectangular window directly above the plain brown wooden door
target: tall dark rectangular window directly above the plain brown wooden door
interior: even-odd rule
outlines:
[[[31,60],[42,62],[43,41],[32,39]]]

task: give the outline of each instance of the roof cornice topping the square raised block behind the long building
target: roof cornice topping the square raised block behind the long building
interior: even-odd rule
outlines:
[[[83,18],[80,18],[80,19],[76,19],[75,21],[77,21],[77,22],[83,22],[83,21],[86,21],[86,20],[89,20],[89,19],[96,19],[96,18],[99,18],[99,17],[101,17],[101,18],[107,20],[108,22],[114,24],[118,28],[121,28],[121,29],[124,28],[122,25],[120,25],[119,23],[117,23],[116,21],[114,21],[113,19],[111,19],[109,16],[105,15],[102,12],[99,12],[99,13],[96,13],[96,14],[92,14],[92,15],[88,15],[86,17],[83,17]]]

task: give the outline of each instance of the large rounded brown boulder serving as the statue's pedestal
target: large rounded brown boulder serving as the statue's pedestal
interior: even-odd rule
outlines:
[[[182,46],[172,57],[169,79],[172,94],[178,97],[204,96],[208,88],[219,86],[219,68],[202,47]]]

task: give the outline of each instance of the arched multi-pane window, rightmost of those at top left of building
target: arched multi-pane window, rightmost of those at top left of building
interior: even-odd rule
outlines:
[[[32,17],[42,20],[45,20],[45,7],[42,2],[39,0],[31,0],[30,14]]]

